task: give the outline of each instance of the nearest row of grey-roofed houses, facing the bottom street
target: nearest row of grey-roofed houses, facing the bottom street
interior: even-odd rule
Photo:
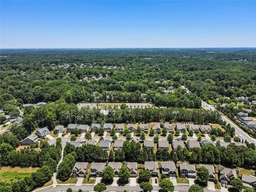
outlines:
[[[149,170],[152,177],[158,177],[159,171],[162,174],[165,174],[167,177],[177,177],[177,170],[179,170],[179,174],[181,177],[187,178],[196,178],[196,166],[195,164],[181,163],[179,167],[176,167],[174,162],[159,162],[160,167],[158,167],[157,162],[145,162],[144,169]],[[134,178],[138,175],[138,164],[137,162],[109,162],[109,163],[92,163],[90,167],[90,176],[91,177],[101,177],[102,171],[105,166],[111,166],[114,170],[115,177],[118,177],[119,170],[122,166],[126,166],[130,171],[130,177]],[[217,172],[215,171],[215,167],[211,164],[199,164],[199,167],[204,166],[207,170],[209,170],[210,181],[215,181]],[[85,177],[89,170],[88,162],[76,162],[73,167],[73,175],[74,177]],[[237,178],[236,171],[233,169],[229,169],[227,167],[220,166],[219,167],[219,181],[221,183],[229,184],[230,181],[234,178]],[[242,181],[245,187],[256,187],[256,177],[253,175],[242,175]]]

